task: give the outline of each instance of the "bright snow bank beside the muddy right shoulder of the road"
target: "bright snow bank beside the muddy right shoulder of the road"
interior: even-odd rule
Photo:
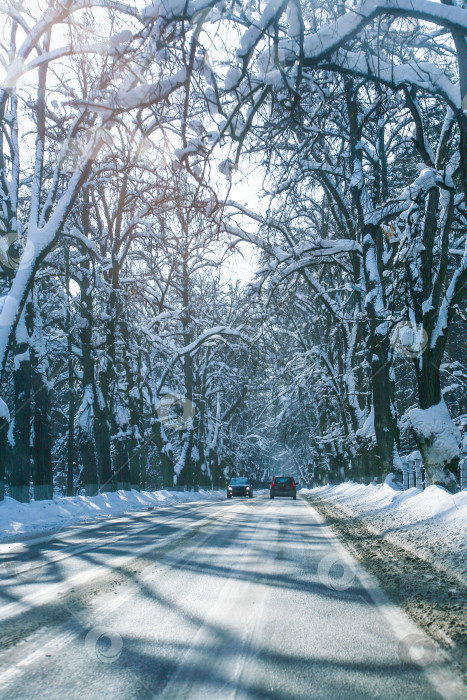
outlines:
[[[451,494],[440,486],[396,491],[390,483],[349,481],[300,493],[334,503],[372,532],[467,583],[467,491]]]

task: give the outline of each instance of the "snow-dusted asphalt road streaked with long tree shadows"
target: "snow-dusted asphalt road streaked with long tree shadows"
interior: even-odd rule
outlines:
[[[465,698],[304,501],[0,546],[0,698]]]

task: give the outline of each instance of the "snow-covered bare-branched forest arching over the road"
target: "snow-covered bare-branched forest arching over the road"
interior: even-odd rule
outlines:
[[[459,489],[466,0],[0,14],[0,499]]]

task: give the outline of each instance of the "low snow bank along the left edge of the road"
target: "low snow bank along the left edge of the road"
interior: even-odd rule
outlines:
[[[18,503],[6,496],[0,501],[0,542],[15,535],[40,534],[84,520],[115,517],[150,506],[224,498],[225,491],[116,491],[100,496],[61,497],[31,503]]]

